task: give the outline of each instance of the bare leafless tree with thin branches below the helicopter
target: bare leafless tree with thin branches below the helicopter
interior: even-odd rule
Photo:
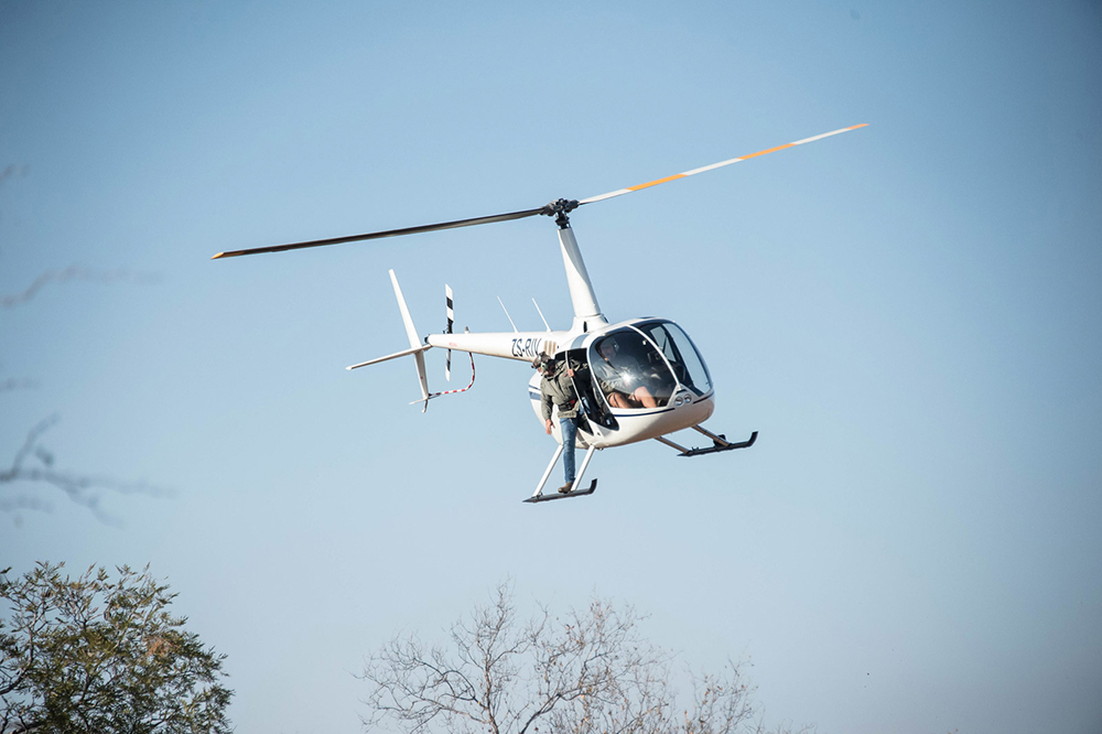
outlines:
[[[361,676],[371,711],[361,720],[411,734],[763,731],[737,663],[717,676],[690,672],[692,695],[679,705],[672,657],[640,637],[638,622],[630,607],[595,600],[561,619],[543,608],[520,624],[501,585],[490,605],[452,626],[446,647],[398,636],[371,655]]]

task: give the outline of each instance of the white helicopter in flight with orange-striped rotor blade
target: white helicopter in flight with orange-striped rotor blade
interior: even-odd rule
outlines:
[[[395,290],[395,296],[398,300],[398,309],[401,313],[410,346],[408,349],[388,354],[383,357],[350,365],[346,369],[359,369],[389,359],[413,357],[421,397],[410,404],[421,403],[421,410],[424,412],[429,408],[430,400],[464,392],[474,386],[474,355],[476,354],[525,363],[532,363],[541,356],[552,357],[555,360],[565,359],[569,365],[579,367],[579,369],[572,370],[572,381],[575,393],[582,404],[581,412],[584,415],[584,420],[579,421],[575,446],[584,449],[585,455],[582,458],[571,490],[564,494],[543,494],[548,478],[564,450],[559,421],[552,420],[552,435],[558,446],[547,469],[544,469],[543,475],[537,484],[536,492],[523,501],[542,503],[592,495],[596,490],[597,481],[593,479],[588,487],[584,487],[582,478],[588,468],[590,460],[593,458],[595,451],[653,440],[679,452],[678,455],[680,456],[702,456],[736,449],[747,449],[754,445],[758,434],[757,431],[754,431],[744,441],[728,441],[725,434],[713,433],[701,425],[701,423],[711,418],[715,410],[714,381],[704,361],[704,357],[696,348],[696,345],[693,344],[685,331],[676,322],[670,319],[645,317],[609,323],[605,319],[604,312],[597,303],[597,296],[594,293],[588,272],[585,269],[585,262],[582,259],[582,252],[574,237],[569,215],[581,206],[604,202],[617,196],[642,191],[644,188],[650,188],[651,186],[678,181],[696,175],[698,173],[713,171],[864,127],[867,127],[867,123],[841,128],[588,198],[559,198],[540,207],[506,214],[404,227],[401,229],[388,229],[347,237],[315,239],[289,245],[229,250],[218,252],[212,259],[259,255],[263,252],[283,252],[380,239],[383,237],[415,235],[440,229],[510,222],[533,216],[551,217],[558,227],[559,246],[566,271],[566,287],[570,291],[571,305],[574,311],[570,328],[553,331],[547,323],[547,320],[543,319],[542,311],[540,311],[540,319],[543,320],[543,325],[547,327],[544,332],[520,332],[514,324],[512,332],[471,333],[465,330],[462,334],[455,333],[453,328],[453,293],[451,288],[445,284],[446,327],[443,333],[429,334],[421,338],[413,325],[413,320],[410,316],[410,311],[402,295],[398,278],[395,271],[390,270],[391,285]],[[536,304],[536,307],[539,311],[539,304]],[[508,316],[508,310],[506,310],[506,315]],[[512,319],[509,317],[509,321],[511,323]],[[424,353],[432,348],[445,349],[447,352],[444,368],[447,380],[451,380],[452,352],[467,353],[471,357],[471,384],[461,389],[430,392]],[[611,375],[615,375],[617,379],[611,379]],[[537,418],[542,423],[540,380],[541,376],[538,370],[528,382],[528,391]],[[557,412],[558,409],[555,408],[554,413]],[[557,414],[553,414],[552,419],[555,418]],[[690,449],[668,438],[677,431],[689,429],[711,440],[711,445]]]

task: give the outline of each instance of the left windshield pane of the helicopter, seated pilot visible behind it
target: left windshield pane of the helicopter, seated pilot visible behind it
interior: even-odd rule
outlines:
[[[661,408],[677,388],[662,355],[633,328],[595,339],[588,356],[594,381],[613,408]]]

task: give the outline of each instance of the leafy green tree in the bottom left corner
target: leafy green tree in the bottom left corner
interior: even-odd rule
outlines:
[[[147,566],[111,581],[63,578],[39,563],[0,574],[0,732],[229,732],[224,655],[204,648],[168,607],[175,594]]]

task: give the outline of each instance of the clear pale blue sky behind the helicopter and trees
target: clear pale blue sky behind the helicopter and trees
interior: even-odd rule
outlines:
[[[121,527],[33,486],[0,558],[144,565],[229,655],[238,731],[355,732],[363,656],[500,580],[749,657],[825,732],[1096,732],[1102,706],[1098,3],[0,2],[0,447],[46,415]],[[230,261],[225,249],[585,197],[605,314],[677,320],[717,384],[687,461],[606,451],[532,507],[529,370],[343,367],[552,326],[551,223]],[[464,377],[462,363],[457,370]],[[430,387],[443,358],[429,354]],[[453,385],[454,386],[454,385]],[[691,442],[691,441],[690,441]],[[4,458],[4,462],[8,460]],[[4,527],[6,526],[6,527]]]

